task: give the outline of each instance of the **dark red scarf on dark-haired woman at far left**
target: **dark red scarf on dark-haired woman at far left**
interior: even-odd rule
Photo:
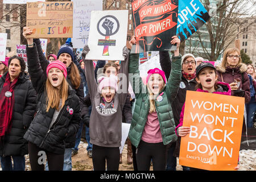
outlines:
[[[19,77],[19,76],[18,76]],[[7,73],[5,83],[0,93],[0,141],[6,133],[11,130],[11,118],[13,116],[14,107],[14,87],[18,81],[18,77],[11,82],[10,75]],[[6,97],[6,92],[11,92],[10,97]]]

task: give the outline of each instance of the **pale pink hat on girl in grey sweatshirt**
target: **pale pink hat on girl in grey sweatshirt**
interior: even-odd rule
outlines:
[[[117,85],[118,78],[117,76],[110,75],[110,77],[101,76],[98,78],[98,88],[101,90],[106,87],[110,86],[115,89],[115,92],[118,91],[118,85]]]

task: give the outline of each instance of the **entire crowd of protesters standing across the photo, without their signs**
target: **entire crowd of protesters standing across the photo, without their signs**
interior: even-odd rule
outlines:
[[[127,163],[135,171],[176,170],[187,90],[245,98],[244,127],[253,127],[256,111],[255,69],[230,48],[214,67],[202,57],[159,52],[162,69],[150,69],[146,91],[139,75],[139,54],[123,47],[124,61],[78,60],[71,39],[57,55],[45,57],[39,39],[27,40],[27,70],[22,57],[0,62],[0,156],[3,171],[71,171],[85,125],[88,156],[95,171],[117,171],[122,122],[130,123]],[[130,40],[130,46],[136,40]],[[129,76],[132,75],[132,76]],[[128,79],[129,78],[129,79]],[[121,88],[122,87],[122,88]],[[40,162],[44,156],[46,160]],[[13,161],[13,162],[12,162]],[[183,170],[198,170],[182,166]],[[238,166],[235,168],[238,169]]]

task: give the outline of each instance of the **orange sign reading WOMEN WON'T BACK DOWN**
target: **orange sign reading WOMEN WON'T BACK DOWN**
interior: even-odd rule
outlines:
[[[237,166],[245,98],[187,91],[179,163],[183,166],[231,171]]]

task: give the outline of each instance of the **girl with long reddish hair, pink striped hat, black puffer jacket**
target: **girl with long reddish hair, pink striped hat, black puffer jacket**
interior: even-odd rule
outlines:
[[[68,136],[75,136],[81,122],[80,99],[66,80],[68,72],[63,61],[52,61],[47,67],[40,63],[38,47],[31,32],[23,29],[27,39],[27,64],[32,86],[36,90],[36,115],[24,134],[32,171],[44,171],[46,159],[49,171],[63,171]]]

